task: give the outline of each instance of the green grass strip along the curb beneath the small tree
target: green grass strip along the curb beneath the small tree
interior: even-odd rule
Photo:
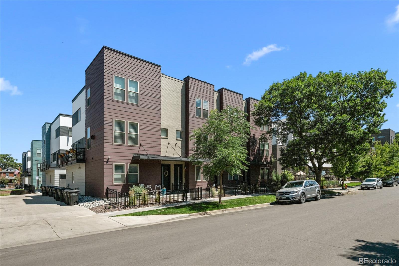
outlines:
[[[263,195],[241,199],[222,200],[219,204],[218,201],[201,202],[176,207],[168,207],[159,210],[146,210],[143,212],[133,212],[128,214],[121,214],[116,216],[141,216],[141,215],[164,215],[164,214],[190,214],[195,212],[206,212],[210,210],[220,210],[248,205],[255,205],[261,203],[269,203],[276,201],[275,195]]]

